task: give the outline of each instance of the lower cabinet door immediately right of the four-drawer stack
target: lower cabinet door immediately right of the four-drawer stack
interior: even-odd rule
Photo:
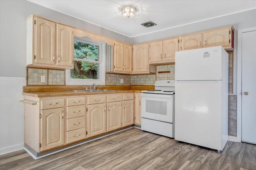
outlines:
[[[106,132],[106,105],[88,105],[88,137]]]

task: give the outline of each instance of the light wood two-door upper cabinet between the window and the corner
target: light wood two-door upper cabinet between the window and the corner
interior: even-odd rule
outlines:
[[[114,72],[132,73],[132,45],[116,41],[114,50]]]

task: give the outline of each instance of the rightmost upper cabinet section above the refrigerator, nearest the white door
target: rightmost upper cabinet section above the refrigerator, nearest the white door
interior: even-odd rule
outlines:
[[[224,27],[205,31],[203,36],[203,47],[214,47],[222,45],[227,51],[234,49],[234,28]]]

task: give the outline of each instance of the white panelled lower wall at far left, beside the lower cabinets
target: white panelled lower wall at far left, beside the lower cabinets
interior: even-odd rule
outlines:
[[[0,155],[23,149],[23,77],[0,77]]]

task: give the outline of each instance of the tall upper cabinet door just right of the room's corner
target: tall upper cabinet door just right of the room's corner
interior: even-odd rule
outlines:
[[[148,43],[133,46],[132,67],[133,73],[149,73]]]

